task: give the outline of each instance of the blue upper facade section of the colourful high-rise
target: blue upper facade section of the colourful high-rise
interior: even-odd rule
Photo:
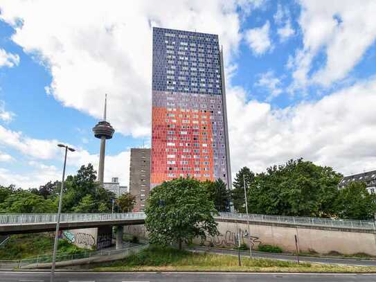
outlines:
[[[154,91],[222,94],[218,35],[153,28]]]

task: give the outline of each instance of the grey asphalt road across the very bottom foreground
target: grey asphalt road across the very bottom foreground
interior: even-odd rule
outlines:
[[[0,272],[1,282],[48,282],[49,272]],[[249,274],[173,272],[57,272],[55,282],[339,282],[376,281],[376,274]]]

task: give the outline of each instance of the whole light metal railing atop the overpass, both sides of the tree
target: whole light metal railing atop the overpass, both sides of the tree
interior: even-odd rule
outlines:
[[[62,213],[60,222],[95,222],[111,220],[145,220],[145,213]],[[0,214],[0,225],[55,223],[55,213],[10,213]],[[247,220],[246,213],[219,213],[214,218]],[[298,225],[346,227],[355,229],[373,229],[374,221],[341,220],[330,218],[304,218],[284,215],[249,214],[249,220],[256,222],[283,222]]]

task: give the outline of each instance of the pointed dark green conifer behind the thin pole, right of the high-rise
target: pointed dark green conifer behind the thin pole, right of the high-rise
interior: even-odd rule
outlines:
[[[246,182],[246,191],[248,191],[249,186],[255,181],[254,173],[249,168],[247,168],[247,166],[241,168],[235,175],[235,179],[233,181],[233,190],[231,191],[231,200],[233,201],[235,211],[238,211],[240,213],[245,212],[243,175]]]

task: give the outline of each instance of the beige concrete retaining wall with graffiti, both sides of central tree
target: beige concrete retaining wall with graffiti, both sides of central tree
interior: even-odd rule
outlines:
[[[236,233],[240,229],[241,243],[249,245],[249,233],[246,222],[218,222],[219,236],[208,236],[205,245],[213,243],[217,247],[235,247],[238,245]],[[338,252],[341,254],[364,253],[376,256],[376,237],[370,231],[325,229],[320,227],[294,227],[291,224],[250,224],[251,241],[253,248],[258,245],[276,245],[285,252],[295,252],[295,238],[298,238],[300,252],[317,252],[328,254]],[[144,225],[125,227],[125,233],[130,233],[139,238],[147,238]],[[194,243],[202,243],[197,238]]]

